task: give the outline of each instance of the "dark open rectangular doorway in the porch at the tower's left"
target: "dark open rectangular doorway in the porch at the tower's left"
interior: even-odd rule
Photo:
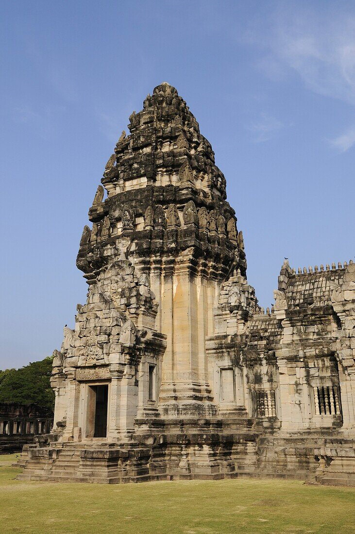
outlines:
[[[86,437],[107,437],[108,384],[88,385]]]

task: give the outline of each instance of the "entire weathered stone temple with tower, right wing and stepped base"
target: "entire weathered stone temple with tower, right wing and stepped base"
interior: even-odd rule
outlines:
[[[185,101],[164,82],[128,128],[80,242],[89,292],[54,351],[54,428],[19,478],[355,485],[354,263],[285,260],[264,313]]]

